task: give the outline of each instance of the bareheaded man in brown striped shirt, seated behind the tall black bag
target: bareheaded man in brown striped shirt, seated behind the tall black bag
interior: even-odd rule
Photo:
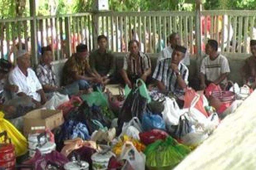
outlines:
[[[128,45],[129,53],[124,57],[124,66],[121,70],[125,84],[132,88],[137,79],[147,81],[151,74],[150,58],[139,50],[139,41],[131,40]]]

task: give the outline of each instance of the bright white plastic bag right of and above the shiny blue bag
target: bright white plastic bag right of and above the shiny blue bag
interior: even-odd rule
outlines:
[[[172,126],[179,124],[180,116],[182,115],[180,107],[178,106],[175,99],[170,99],[169,97],[165,98],[164,109],[162,112],[163,120],[165,121],[166,126]]]

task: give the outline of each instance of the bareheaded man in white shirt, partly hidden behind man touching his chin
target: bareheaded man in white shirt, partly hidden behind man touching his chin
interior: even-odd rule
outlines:
[[[173,52],[173,49],[177,46],[177,45],[180,45],[181,44],[181,40],[180,40],[180,36],[178,33],[172,33],[170,36],[169,36],[169,43],[170,45],[166,48],[164,48],[160,54],[159,54],[159,57],[157,59],[157,62],[161,61],[161,60],[164,60],[166,58],[171,58],[172,57],[172,52]],[[185,54],[185,57],[183,58],[183,60],[181,61],[184,65],[188,66],[190,65],[190,58],[189,58],[189,54],[188,52],[186,51],[186,54]]]

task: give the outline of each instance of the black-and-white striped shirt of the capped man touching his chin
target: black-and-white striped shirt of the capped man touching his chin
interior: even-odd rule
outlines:
[[[157,62],[156,69],[153,74],[153,78],[161,81],[168,91],[173,92],[177,97],[184,95],[184,90],[179,88],[177,82],[177,76],[170,67],[171,58],[166,58]],[[180,63],[178,69],[181,73],[182,79],[188,84],[188,68]]]

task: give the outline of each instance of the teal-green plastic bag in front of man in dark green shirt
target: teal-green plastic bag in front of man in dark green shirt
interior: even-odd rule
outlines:
[[[94,104],[96,106],[108,106],[108,96],[104,94],[98,87],[97,91],[94,91],[90,94],[83,95],[82,97],[83,101],[86,101],[88,106],[91,107]]]

